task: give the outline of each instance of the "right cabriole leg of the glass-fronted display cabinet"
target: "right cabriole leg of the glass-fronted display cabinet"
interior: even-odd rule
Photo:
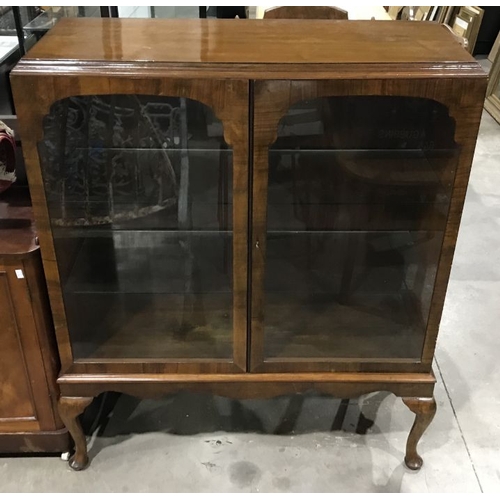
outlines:
[[[406,443],[405,464],[411,470],[419,470],[423,460],[417,453],[417,445],[436,414],[436,401],[434,398],[403,398],[403,402],[415,413],[415,422]]]

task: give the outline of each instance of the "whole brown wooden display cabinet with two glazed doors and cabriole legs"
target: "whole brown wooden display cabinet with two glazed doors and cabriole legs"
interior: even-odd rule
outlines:
[[[60,21],[12,73],[62,370],[103,391],[391,391],[432,360],[486,89],[436,23]]]

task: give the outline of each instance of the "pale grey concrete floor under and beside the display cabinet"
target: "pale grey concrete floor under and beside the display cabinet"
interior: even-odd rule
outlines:
[[[500,491],[500,126],[483,114],[438,341],[438,412],[419,473],[402,465],[413,415],[387,393],[231,401],[108,395],[91,467],[0,458],[0,491]],[[97,405],[92,409],[96,409]]]

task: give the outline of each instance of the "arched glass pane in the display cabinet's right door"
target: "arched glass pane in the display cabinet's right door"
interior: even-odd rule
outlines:
[[[269,151],[266,358],[419,358],[455,176],[447,109],[302,101]]]

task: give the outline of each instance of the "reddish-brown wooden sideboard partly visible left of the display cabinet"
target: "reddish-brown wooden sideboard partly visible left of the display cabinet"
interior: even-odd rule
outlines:
[[[27,188],[0,195],[0,453],[70,449],[59,361]]]

